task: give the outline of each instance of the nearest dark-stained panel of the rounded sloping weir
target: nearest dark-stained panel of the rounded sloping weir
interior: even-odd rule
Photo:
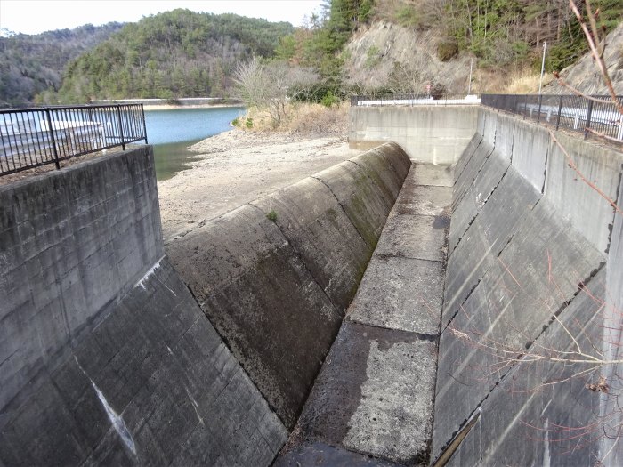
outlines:
[[[256,206],[207,222],[167,249],[199,306],[291,427],[341,311]]]

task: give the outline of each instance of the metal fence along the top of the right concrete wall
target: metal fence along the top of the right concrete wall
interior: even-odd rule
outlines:
[[[538,123],[553,125],[556,130],[566,128],[584,133],[595,133],[609,140],[623,142],[623,115],[610,96],[483,94],[482,105],[506,110],[531,118]],[[623,103],[623,96],[618,96]]]

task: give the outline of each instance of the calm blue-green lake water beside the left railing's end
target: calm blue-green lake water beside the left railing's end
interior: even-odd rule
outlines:
[[[145,110],[147,138],[154,146],[158,181],[188,168],[189,157],[195,155],[188,150],[189,146],[230,130],[231,120],[244,113],[244,107]]]

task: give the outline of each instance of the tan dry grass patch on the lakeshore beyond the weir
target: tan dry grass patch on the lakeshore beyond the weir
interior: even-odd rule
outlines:
[[[279,125],[266,112],[248,109],[244,117],[239,117],[239,128],[258,133],[291,133],[297,136],[317,137],[345,135],[348,132],[348,109],[343,103],[331,108],[320,104],[295,103],[287,108],[287,116]],[[251,120],[252,124],[247,125]]]

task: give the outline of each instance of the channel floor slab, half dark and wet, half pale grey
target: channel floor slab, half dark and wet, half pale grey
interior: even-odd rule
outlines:
[[[425,459],[435,342],[344,323],[299,419],[305,439],[399,463]]]

